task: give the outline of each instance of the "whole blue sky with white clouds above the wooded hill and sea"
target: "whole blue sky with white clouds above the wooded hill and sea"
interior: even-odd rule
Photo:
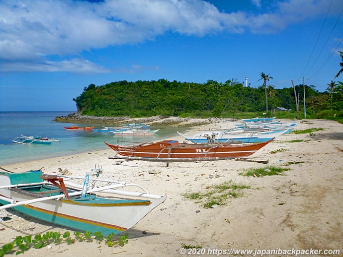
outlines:
[[[324,92],[343,0],[1,0],[0,111],[76,111],[93,83],[235,79]],[[343,81],[343,75],[335,81]]]

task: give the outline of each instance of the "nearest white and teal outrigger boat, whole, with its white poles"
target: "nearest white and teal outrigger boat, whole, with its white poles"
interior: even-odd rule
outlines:
[[[89,178],[98,173],[82,178],[41,171],[0,172],[0,210],[12,208],[62,227],[107,236],[131,228],[167,197],[147,193],[136,184]],[[71,183],[74,179],[84,180],[84,186]],[[141,192],[118,190],[129,186]]]

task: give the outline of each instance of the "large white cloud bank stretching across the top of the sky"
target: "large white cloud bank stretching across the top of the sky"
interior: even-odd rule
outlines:
[[[261,5],[261,0],[252,1]],[[152,40],[166,31],[195,37],[223,31],[275,33],[326,11],[327,5],[326,0],[280,0],[273,12],[252,15],[221,12],[205,0],[1,0],[0,70],[109,72],[67,57]]]

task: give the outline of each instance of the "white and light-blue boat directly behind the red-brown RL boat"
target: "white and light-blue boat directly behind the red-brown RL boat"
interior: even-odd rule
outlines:
[[[284,133],[287,133],[292,128],[286,128],[282,130],[274,131],[262,131],[262,132],[238,132],[238,131],[225,131],[225,130],[211,130],[194,135],[182,134],[177,131],[179,135],[182,135],[186,141],[193,143],[204,143],[208,141],[208,137],[213,138],[217,142],[221,143],[256,143],[266,142],[274,139]]]

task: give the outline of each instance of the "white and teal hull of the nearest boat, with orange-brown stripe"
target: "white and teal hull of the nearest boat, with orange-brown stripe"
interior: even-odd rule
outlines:
[[[8,176],[0,174],[0,184],[8,185]],[[33,188],[30,189],[34,191]],[[17,202],[37,199],[37,193],[20,189],[0,189],[0,196],[15,199]],[[123,198],[104,198],[88,195],[85,198],[50,199],[12,207],[21,213],[76,231],[121,233],[139,222],[146,214],[166,199],[137,200]],[[1,204],[8,202],[0,199]]]

